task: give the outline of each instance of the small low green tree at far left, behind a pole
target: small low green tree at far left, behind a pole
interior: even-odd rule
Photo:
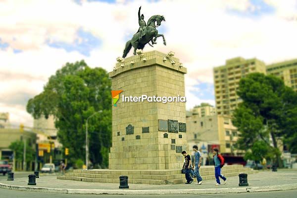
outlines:
[[[13,150],[15,153],[15,159],[17,161],[23,161],[24,159],[24,142],[21,140],[17,140],[14,142],[11,142],[9,149]],[[35,159],[35,151],[33,150],[32,146],[29,145],[28,142],[26,142],[26,162],[32,162]]]

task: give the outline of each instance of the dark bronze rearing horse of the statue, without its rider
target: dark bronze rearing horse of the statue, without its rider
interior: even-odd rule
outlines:
[[[146,34],[143,36],[143,38],[140,38],[140,32],[133,35],[132,39],[126,43],[126,47],[123,53],[123,58],[127,56],[129,51],[131,50],[131,47],[134,47],[134,55],[136,55],[137,49],[144,49],[145,45],[148,44],[149,41],[151,41],[152,44],[155,44],[155,41],[158,37],[163,37],[163,44],[166,45],[166,41],[163,34],[158,34],[158,30],[156,27],[161,25],[161,22],[165,21],[164,16],[161,15],[153,15],[148,19],[148,24],[146,28]],[[155,22],[157,22],[157,26],[155,26]],[[150,44],[149,44],[150,45]],[[152,46],[152,45],[150,45]]]

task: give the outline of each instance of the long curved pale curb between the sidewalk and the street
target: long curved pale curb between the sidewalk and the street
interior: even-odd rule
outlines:
[[[297,184],[285,184],[263,187],[224,188],[224,189],[181,189],[181,190],[97,190],[97,189],[54,189],[39,187],[13,186],[0,183],[0,188],[19,191],[96,194],[96,195],[172,195],[172,194],[220,194],[220,193],[254,193],[268,191],[287,191],[297,189]]]

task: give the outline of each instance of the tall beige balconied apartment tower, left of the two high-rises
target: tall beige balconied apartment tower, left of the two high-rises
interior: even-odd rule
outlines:
[[[236,94],[239,81],[251,72],[266,73],[265,64],[258,59],[237,57],[226,60],[224,66],[213,68],[216,112],[218,115],[232,115],[242,101]]]

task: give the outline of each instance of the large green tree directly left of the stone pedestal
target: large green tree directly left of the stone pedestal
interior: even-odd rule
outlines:
[[[72,162],[85,159],[86,120],[88,121],[90,160],[106,164],[104,150],[111,146],[111,81],[102,68],[90,68],[84,61],[67,63],[50,76],[44,91],[30,99],[27,112],[34,118],[55,117],[58,139],[69,148]]]

